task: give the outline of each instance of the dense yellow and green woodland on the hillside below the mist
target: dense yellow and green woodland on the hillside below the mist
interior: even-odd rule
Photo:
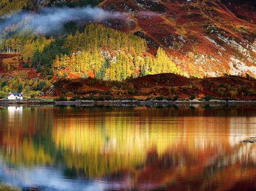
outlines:
[[[46,39],[44,36],[27,36],[2,40],[0,53],[22,53],[23,61],[42,77],[77,73],[92,73],[102,80],[122,80],[133,75],[175,73],[181,70],[172,63],[164,50],[159,49],[155,59],[147,56],[144,39],[115,31],[98,24],[85,26],[84,32]],[[108,55],[103,56],[102,52]],[[27,65],[27,64],[26,64]],[[5,66],[5,65],[4,65]]]

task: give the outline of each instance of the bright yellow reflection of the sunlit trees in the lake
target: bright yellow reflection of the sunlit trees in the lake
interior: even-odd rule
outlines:
[[[119,169],[144,163],[143,136],[122,117],[67,118],[56,120],[53,132],[57,149],[63,152],[69,169],[86,177],[102,177]],[[105,128],[109,126],[109,128]]]

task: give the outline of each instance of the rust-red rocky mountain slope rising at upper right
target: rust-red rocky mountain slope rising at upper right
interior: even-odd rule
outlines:
[[[163,47],[188,77],[256,75],[254,2],[106,0],[101,7],[128,19],[101,23],[145,38],[152,54]]]

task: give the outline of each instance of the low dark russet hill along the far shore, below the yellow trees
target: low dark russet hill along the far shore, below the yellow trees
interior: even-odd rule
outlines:
[[[225,76],[187,78],[176,74],[146,75],[122,82],[88,79],[61,79],[44,89],[40,97],[75,97],[84,100],[255,100],[255,80]],[[124,98],[126,97],[126,98]]]

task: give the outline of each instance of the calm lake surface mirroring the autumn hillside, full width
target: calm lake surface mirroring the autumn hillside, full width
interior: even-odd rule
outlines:
[[[256,105],[0,105],[0,185],[256,190]]]

